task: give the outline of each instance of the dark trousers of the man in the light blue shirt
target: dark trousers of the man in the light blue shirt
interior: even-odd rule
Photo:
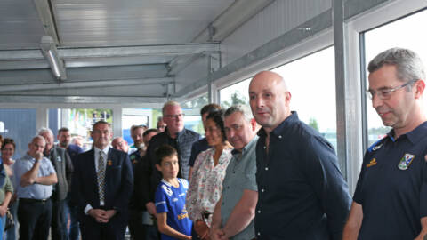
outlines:
[[[52,202],[28,201],[20,198],[18,205],[20,240],[47,240],[52,220]]]

